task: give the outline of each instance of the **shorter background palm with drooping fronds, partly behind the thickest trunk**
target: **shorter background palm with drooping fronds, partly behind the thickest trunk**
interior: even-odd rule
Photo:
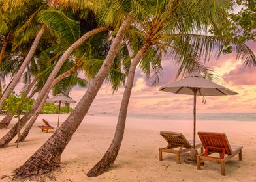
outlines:
[[[103,38],[103,40],[99,40]],[[76,64],[74,64],[74,66],[72,66],[71,69],[67,70],[66,72],[62,73],[61,75],[59,75],[56,79],[54,79],[54,82],[51,85],[51,88],[54,86],[53,89],[53,93],[54,94],[59,94],[60,92],[63,92],[63,90],[65,91],[65,94],[69,94],[69,92],[71,91],[71,87],[73,85],[79,85],[84,87],[84,80],[80,80],[80,79],[76,79],[77,73],[73,73],[73,75],[67,77],[69,74],[71,74],[72,72],[74,72],[76,69],[81,69],[84,70],[86,72],[86,77],[95,77],[95,73],[97,73],[99,71],[99,68],[101,67],[101,65],[103,64],[103,61],[99,60],[99,58],[106,56],[106,50],[108,49],[108,44],[106,45],[106,38],[107,37],[102,37],[99,36],[98,38],[92,38],[91,42],[95,43],[95,42],[100,42],[103,45],[98,45],[98,44],[91,44],[92,45],[92,54],[93,55],[89,55],[89,57],[84,57],[84,53],[82,53],[82,55],[80,55],[80,53],[78,53],[78,55],[76,55]],[[127,57],[127,53],[128,50],[126,47],[122,47],[123,49],[123,59],[125,59]],[[81,49],[82,51],[82,49]],[[97,58],[95,60],[95,58]],[[112,83],[112,88],[113,90],[116,90],[116,88],[118,88],[119,85],[123,84],[124,78],[125,78],[125,74],[120,74],[120,62],[121,60],[115,59],[115,62],[112,66],[112,68],[110,69],[110,75],[108,75],[108,80],[110,83]],[[95,64],[99,64],[95,65]],[[115,66],[116,65],[116,66]],[[66,68],[67,66],[63,66],[64,68]],[[99,68],[98,68],[99,67]],[[118,68],[116,68],[118,67]],[[62,80],[61,80],[62,79]],[[60,81],[61,80],[61,81]],[[65,80],[65,81],[64,81]],[[115,80],[115,81],[113,81]],[[63,81],[63,83],[62,83]],[[46,94],[47,96],[48,94]],[[35,120],[37,120],[37,117],[39,116],[39,112],[42,109],[45,101],[46,101],[47,97],[44,97],[44,99],[42,100],[42,102],[40,103],[39,107],[37,108],[37,111],[35,112],[35,114],[33,115],[33,117],[31,118],[31,120],[29,121],[29,123],[27,124],[27,126],[25,127],[22,135],[20,136],[20,140],[19,142],[22,142],[25,140],[25,138],[27,137],[27,135],[29,134],[29,131],[31,129],[31,127],[33,126],[33,124],[35,123]],[[17,142],[17,140],[16,140]]]

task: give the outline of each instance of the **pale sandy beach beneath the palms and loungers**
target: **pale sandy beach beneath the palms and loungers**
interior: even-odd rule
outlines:
[[[61,122],[68,114],[61,114]],[[3,116],[0,116],[2,119]],[[29,157],[52,135],[42,133],[38,125],[42,118],[57,126],[57,115],[40,115],[31,133],[16,148],[14,140],[7,148],[0,149],[0,176],[12,171]],[[16,120],[16,119],[14,119]],[[116,116],[86,116],[61,156],[62,166],[54,172],[31,177],[26,181],[256,181],[256,122],[239,121],[198,121],[197,131],[225,132],[231,144],[244,146],[243,161],[238,156],[226,163],[226,176],[220,174],[219,164],[206,162],[197,170],[183,162],[176,164],[172,154],[163,153],[158,159],[158,148],[167,146],[159,131],[178,131],[188,139],[193,136],[192,120],[149,120],[127,118],[123,143],[114,168],[99,177],[89,178],[86,172],[103,156],[112,141],[116,127]],[[1,129],[0,136],[8,129]],[[16,138],[15,138],[16,139]],[[199,138],[197,137],[199,140]],[[8,177],[0,181],[8,181]]]

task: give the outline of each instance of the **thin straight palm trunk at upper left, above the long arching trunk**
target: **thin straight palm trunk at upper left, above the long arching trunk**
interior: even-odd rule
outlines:
[[[1,105],[3,102],[3,99],[8,98],[8,94],[10,94],[10,92],[12,92],[12,90],[14,89],[14,87],[16,86],[18,81],[20,80],[20,77],[22,77],[22,73],[24,72],[25,68],[27,68],[29,61],[32,59],[32,57],[37,49],[37,45],[39,44],[40,38],[42,37],[42,35],[44,34],[45,31],[46,31],[46,25],[42,25],[40,31],[38,32],[37,36],[35,37],[35,40],[29,50],[29,53],[27,53],[27,56],[25,57],[24,62],[22,62],[22,66],[20,66],[20,69],[18,70],[18,72],[12,79],[12,82],[10,83],[10,85],[7,87],[7,90],[3,94],[3,96],[0,100],[0,108],[1,108]]]

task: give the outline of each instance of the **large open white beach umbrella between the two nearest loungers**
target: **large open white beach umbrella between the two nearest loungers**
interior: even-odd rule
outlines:
[[[200,73],[191,73],[184,79],[159,88],[159,91],[172,92],[174,94],[194,95],[194,136],[193,149],[195,150],[196,131],[196,96],[227,96],[236,95],[237,92],[214,83]]]

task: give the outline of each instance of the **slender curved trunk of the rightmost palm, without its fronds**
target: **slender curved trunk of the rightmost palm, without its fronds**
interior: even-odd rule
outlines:
[[[88,177],[95,177],[103,174],[113,166],[116,160],[116,156],[118,155],[118,151],[120,149],[121,141],[123,140],[123,134],[125,131],[125,120],[127,116],[127,109],[129,99],[131,96],[131,90],[133,88],[136,66],[138,65],[138,63],[140,62],[140,60],[142,59],[143,55],[146,53],[149,47],[150,44],[145,44],[138,51],[135,58],[133,59],[133,62],[129,68],[127,83],[125,85],[125,91],[123,93],[123,99],[121,101],[118,123],[116,125],[116,132],[114,138],[112,140],[110,147],[108,148],[108,151],[106,151],[101,161],[99,161],[93,168],[91,168],[91,170],[89,170],[87,174]]]

